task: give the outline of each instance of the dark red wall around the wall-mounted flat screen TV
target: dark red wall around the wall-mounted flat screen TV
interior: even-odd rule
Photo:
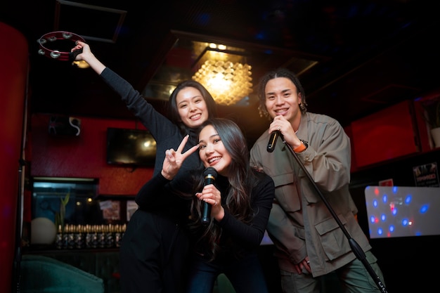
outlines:
[[[97,178],[98,195],[136,195],[153,168],[119,167],[105,161],[108,127],[145,129],[135,120],[81,119],[79,136],[53,136],[50,115],[32,115],[31,176]]]

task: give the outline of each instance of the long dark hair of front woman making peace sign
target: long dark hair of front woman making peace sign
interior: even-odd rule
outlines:
[[[251,206],[252,189],[257,185],[258,179],[252,167],[250,167],[250,154],[247,148],[245,136],[242,134],[240,127],[235,122],[224,119],[208,119],[202,124],[200,129],[207,125],[212,125],[219,134],[226,150],[231,155],[231,164],[228,167],[228,188],[221,190],[222,205],[235,219],[243,223],[249,223],[254,216]],[[203,178],[198,176],[199,180],[195,190],[203,189]],[[224,199],[226,198],[226,201]],[[219,239],[221,237],[221,228],[212,223],[204,227],[201,224],[202,202],[193,197],[191,204],[191,220],[190,228],[192,230],[202,230],[199,244],[209,245],[211,260],[215,259],[219,252]]]

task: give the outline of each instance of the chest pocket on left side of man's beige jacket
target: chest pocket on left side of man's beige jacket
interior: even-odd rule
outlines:
[[[273,176],[275,183],[275,198],[285,211],[299,211],[301,204],[297,188],[294,184],[294,176],[292,173],[286,173]]]

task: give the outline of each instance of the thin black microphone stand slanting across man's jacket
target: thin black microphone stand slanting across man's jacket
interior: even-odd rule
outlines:
[[[347,237],[347,240],[349,240],[349,245],[351,247],[351,250],[354,252],[354,254],[356,255],[357,259],[359,259],[363,263],[363,266],[365,266],[365,268],[367,269],[368,273],[370,273],[370,276],[375,281],[377,287],[379,287],[379,289],[382,292],[387,293],[387,289],[385,289],[385,287],[384,287],[382,281],[380,280],[379,276],[375,273],[373,268],[370,266],[370,263],[368,263],[368,261],[367,261],[367,259],[365,257],[365,253],[363,252],[362,248],[358,245],[356,240],[354,240],[351,237],[351,235],[349,234],[347,229],[344,227],[344,224],[342,224],[341,220],[339,220],[337,214],[335,213],[335,210],[330,206],[330,202],[328,202],[328,200],[324,197],[323,193],[321,193],[321,190],[318,188],[318,185],[316,185],[315,181],[313,181],[313,178],[311,177],[309,171],[307,171],[307,169],[304,166],[304,164],[301,162],[301,160],[299,160],[299,157],[298,157],[297,153],[292,149],[292,146],[290,146],[288,143],[285,143],[284,136],[282,134],[280,136],[283,139],[284,145],[290,150],[290,152],[292,153],[293,157],[295,157],[295,159],[297,160],[297,163],[299,164],[299,167],[301,167],[301,169],[306,174],[307,178],[309,178],[309,181],[312,183],[313,187],[318,192],[318,195],[321,197],[321,200],[323,200],[325,206],[330,211],[330,214],[332,214],[333,218],[335,218],[335,221],[336,221],[337,225],[339,226],[339,228],[341,228],[341,230],[344,233],[345,237]]]

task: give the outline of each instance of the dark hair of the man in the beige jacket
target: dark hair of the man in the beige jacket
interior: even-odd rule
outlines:
[[[260,101],[260,105],[258,106],[259,114],[261,117],[266,116],[268,119],[272,120],[272,118],[268,115],[267,109],[266,109],[266,84],[269,80],[277,78],[277,77],[285,77],[290,79],[293,84],[297,87],[298,93],[301,93],[301,104],[299,105],[299,109],[301,110],[302,114],[307,112],[307,103],[306,103],[306,93],[302,87],[301,82],[299,82],[298,77],[295,75],[295,73],[291,72],[290,70],[280,67],[276,70],[272,70],[270,72],[267,72],[264,74],[263,77],[259,80],[258,84],[258,98]]]

